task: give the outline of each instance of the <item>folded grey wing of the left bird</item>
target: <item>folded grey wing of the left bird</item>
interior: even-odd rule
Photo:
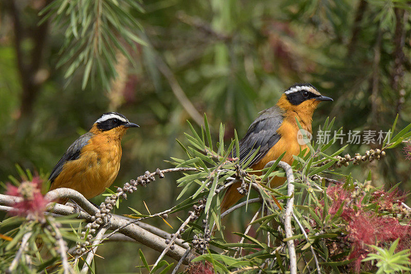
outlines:
[[[51,184],[53,184],[54,179],[57,178],[63,170],[63,166],[66,161],[76,160],[80,157],[81,149],[88,143],[92,135],[92,133],[87,132],[74,141],[70,147],[68,147],[66,153],[64,153],[63,157],[61,157],[60,161],[51,171],[50,177],[48,178]]]

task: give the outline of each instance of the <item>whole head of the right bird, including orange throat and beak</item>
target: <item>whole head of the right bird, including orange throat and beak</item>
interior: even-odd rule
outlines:
[[[321,95],[313,85],[305,83],[290,86],[278,100],[277,105],[285,111],[312,115],[315,108],[322,101],[333,100]]]

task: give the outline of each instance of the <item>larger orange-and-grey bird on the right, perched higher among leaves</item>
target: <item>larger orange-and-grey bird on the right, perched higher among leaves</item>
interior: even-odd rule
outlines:
[[[298,143],[298,119],[304,130],[312,133],[312,114],[321,101],[332,101],[322,96],[311,84],[295,84],[289,87],[277,104],[259,113],[257,119],[251,123],[246,136],[239,141],[239,155],[241,162],[246,162],[258,150],[253,160],[246,168],[253,170],[264,169],[266,164],[276,160],[284,152],[282,161],[291,165],[293,155],[307,148],[306,144]],[[286,178],[275,177],[271,187],[284,184]],[[237,188],[240,183],[228,188],[221,202],[221,212],[234,205],[242,195]]]

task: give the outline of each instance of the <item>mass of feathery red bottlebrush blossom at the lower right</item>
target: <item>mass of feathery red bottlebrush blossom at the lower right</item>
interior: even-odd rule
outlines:
[[[411,150],[411,149],[410,149]],[[361,199],[357,200],[356,207],[353,207],[354,200],[351,192],[344,189],[343,185],[328,187],[327,195],[331,198],[331,204],[328,213],[334,215],[342,209],[341,217],[347,222],[347,236],[345,239],[351,243],[352,249],[348,255],[348,260],[354,259],[352,263],[353,270],[360,272],[361,267],[368,269],[371,265],[362,264],[372,248],[369,245],[384,246],[400,239],[397,246],[397,252],[411,246],[411,224],[400,224],[397,218],[378,215],[373,211],[364,211],[361,205]],[[380,209],[392,210],[395,204],[401,204],[405,199],[404,193],[394,190],[387,193],[384,190],[378,190],[371,194],[371,201],[378,203]],[[322,213],[321,210],[317,212]]]

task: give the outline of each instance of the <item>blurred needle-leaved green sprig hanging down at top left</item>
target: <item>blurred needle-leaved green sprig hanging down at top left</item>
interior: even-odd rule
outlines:
[[[136,34],[142,27],[132,15],[144,12],[140,4],[134,0],[54,0],[45,7],[39,13],[44,15],[40,24],[51,17],[59,30],[65,30],[62,55],[56,65],[68,64],[64,77],[72,77],[84,66],[82,89],[96,79],[109,89],[110,80],[118,73],[116,50],[133,62],[124,42],[133,50],[137,50],[135,43],[145,45]]]

